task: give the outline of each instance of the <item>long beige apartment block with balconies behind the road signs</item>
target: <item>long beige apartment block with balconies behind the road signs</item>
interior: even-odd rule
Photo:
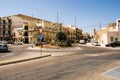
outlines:
[[[56,31],[60,29],[60,24],[37,18],[33,19],[33,17],[26,15],[19,15],[19,17],[29,21],[23,22],[22,27],[17,28],[17,31],[14,31],[16,34],[19,32],[19,36],[15,35],[15,41],[35,43],[39,41],[39,34],[42,34],[44,36],[44,42],[56,42]],[[38,28],[43,28],[43,32],[40,33]]]

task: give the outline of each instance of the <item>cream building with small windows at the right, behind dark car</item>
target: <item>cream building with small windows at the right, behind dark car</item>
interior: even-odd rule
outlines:
[[[120,41],[120,19],[117,19],[116,23],[109,23],[106,28],[99,30],[95,36],[95,40],[102,46],[114,41]]]

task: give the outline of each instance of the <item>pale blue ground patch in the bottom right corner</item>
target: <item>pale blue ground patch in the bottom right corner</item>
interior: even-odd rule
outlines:
[[[107,71],[105,75],[120,79],[120,67]]]

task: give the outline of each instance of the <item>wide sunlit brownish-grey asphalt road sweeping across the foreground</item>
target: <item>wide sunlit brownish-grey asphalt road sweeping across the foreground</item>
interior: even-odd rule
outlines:
[[[0,66],[0,80],[116,80],[101,74],[120,66],[119,49],[80,47],[70,55]]]

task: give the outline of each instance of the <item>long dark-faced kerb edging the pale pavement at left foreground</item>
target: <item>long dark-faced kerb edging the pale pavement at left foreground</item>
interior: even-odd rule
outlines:
[[[28,59],[21,59],[21,60],[16,60],[16,61],[10,61],[10,62],[2,62],[2,63],[0,63],[0,66],[14,64],[14,63],[20,63],[20,62],[25,62],[25,61],[30,61],[30,60],[35,60],[35,59],[49,57],[49,56],[51,56],[51,54],[45,55],[45,56],[38,56],[38,57],[28,58]]]

